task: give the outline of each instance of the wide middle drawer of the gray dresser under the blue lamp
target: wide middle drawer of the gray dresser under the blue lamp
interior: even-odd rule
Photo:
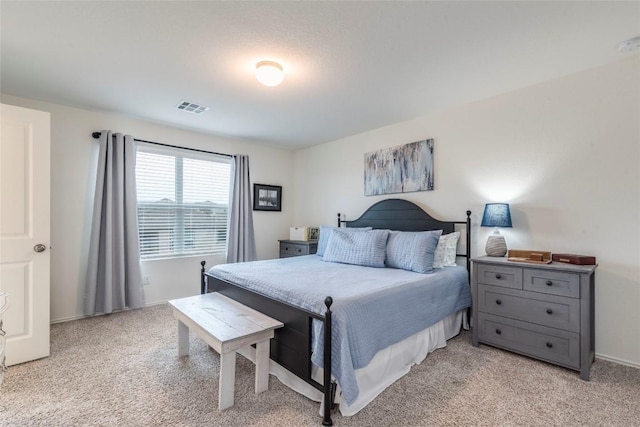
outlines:
[[[551,328],[580,332],[580,300],[478,285],[478,310]]]

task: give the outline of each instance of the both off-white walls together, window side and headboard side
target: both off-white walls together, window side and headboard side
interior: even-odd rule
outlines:
[[[473,255],[491,230],[484,203],[511,203],[511,248],[595,255],[596,352],[640,366],[640,59],[431,114],[292,154],[129,117],[2,95],[51,113],[51,318],[82,315],[97,143],[102,129],[141,139],[243,153],[253,182],[283,186],[283,211],[254,212],[258,257],[275,258],[291,225],[358,217],[364,153],[435,139],[434,191],[391,195],[442,219],[473,211]],[[427,96],[427,95],[425,95]],[[295,188],[292,185],[295,177]],[[148,303],[199,291],[200,257],[144,263]],[[208,264],[221,260],[208,259]]]

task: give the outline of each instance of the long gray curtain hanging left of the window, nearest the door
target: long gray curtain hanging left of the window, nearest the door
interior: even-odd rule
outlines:
[[[85,314],[144,306],[133,137],[102,131]]]

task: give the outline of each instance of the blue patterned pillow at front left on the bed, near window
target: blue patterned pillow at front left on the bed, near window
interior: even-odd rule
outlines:
[[[336,228],[331,232],[323,261],[364,267],[384,267],[389,230],[369,230],[359,233]]]

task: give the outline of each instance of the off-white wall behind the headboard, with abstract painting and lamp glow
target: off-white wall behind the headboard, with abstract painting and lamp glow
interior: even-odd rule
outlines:
[[[640,58],[298,151],[295,223],[357,218],[385,198],[363,196],[364,153],[425,138],[435,190],[386,197],[471,209],[474,256],[494,201],[511,204],[509,247],[595,255],[596,353],[640,366]]]

